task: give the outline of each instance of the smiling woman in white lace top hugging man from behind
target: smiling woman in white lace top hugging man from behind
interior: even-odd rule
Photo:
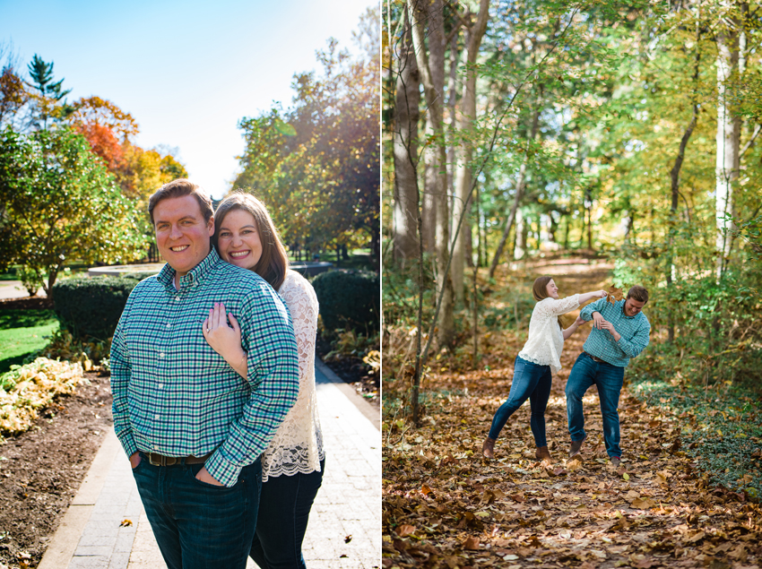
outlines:
[[[325,466],[315,397],[315,289],[298,272],[289,270],[273,220],[253,195],[231,194],[222,201],[214,212],[212,239],[222,260],[256,272],[278,291],[294,323],[299,395],[262,455],[262,492],[249,555],[263,569],[304,569],[302,541]],[[226,315],[224,305],[210,310],[203,335],[212,349],[246,377],[240,327],[233,315]]]

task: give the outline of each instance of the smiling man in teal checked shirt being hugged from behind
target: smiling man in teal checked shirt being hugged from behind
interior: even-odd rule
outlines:
[[[290,315],[255,272],[220,259],[199,186],[161,186],[149,212],[167,264],[134,288],[114,333],[114,429],[169,569],[243,569],[259,455],[299,392]],[[215,302],[238,320],[247,377],[204,340]]]

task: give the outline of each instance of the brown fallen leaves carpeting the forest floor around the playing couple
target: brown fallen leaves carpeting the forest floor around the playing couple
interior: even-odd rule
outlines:
[[[562,297],[609,284],[608,266],[568,269],[581,272],[558,275]],[[532,268],[532,274],[542,272]],[[619,469],[610,466],[603,446],[594,387],[584,398],[588,438],[581,460],[567,460],[564,387],[588,332],[589,324],[567,340],[563,369],[553,378],[546,411],[550,463],[534,458],[528,403],[503,429],[495,460],[481,457],[481,442],[507,397],[525,336],[493,340],[477,371],[432,365],[437,370],[423,383],[420,427],[387,409],[386,569],[758,567],[759,504],[707,485],[680,442],[686,415],[637,399],[627,375],[619,401]],[[387,397],[405,396],[397,385],[402,383],[385,383],[385,406]]]

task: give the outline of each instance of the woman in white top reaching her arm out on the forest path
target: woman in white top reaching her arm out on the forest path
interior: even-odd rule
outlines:
[[[575,310],[591,298],[605,297],[606,291],[594,290],[559,299],[556,283],[552,277],[545,276],[534,280],[532,294],[537,304],[534,305],[532,319],[529,321],[529,338],[516,356],[508,399],[495,413],[489,435],[481,445],[481,453],[488,459],[495,457],[495,441],[508,418],[528,399],[532,406],[530,427],[537,446],[534,455],[538,460],[550,460],[545,440],[545,407],[550,398],[552,374],[561,369],[564,341],[584,323],[584,320],[577,318],[575,323],[562,330],[559,316]]]

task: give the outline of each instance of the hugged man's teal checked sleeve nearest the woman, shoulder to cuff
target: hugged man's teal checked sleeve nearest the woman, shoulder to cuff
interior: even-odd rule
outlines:
[[[268,291],[272,291],[267,285]],[[230,425],[228,438],[204,467],[231,487],[240,470],[264,452],[299,394],[299,358],[288,311],[266,292],[252,295],[238,315],[247,352],[251,397],[243,415]]]

